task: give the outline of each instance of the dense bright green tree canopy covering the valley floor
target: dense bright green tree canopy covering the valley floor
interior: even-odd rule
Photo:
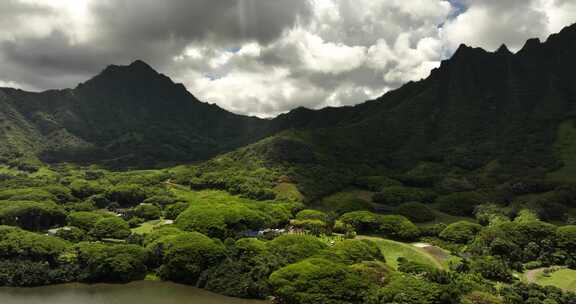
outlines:
[[[224,178],[203,171],[56,168],[0,181],[0,286],[154,275],[286,304],[574,303],[571,293],[518,280],[529,268],[576,267],[576,227],[569,218],[558,226],[545,221],[570,210],[576,191],[567,185],[479,188],[473,178],[436,179],[423,166],[393,178],[356,178],[350,182],[364,189],[353,190],[359,195],[336,193],[305,206],[288,196],[263,200],[271,197],[256,195],[264,187],[257,183],[236,191],[243,196],[176,184]],[[237,177],[259,175],[290,184],[275,172]],[[431,243],[451,259],[396,260],[372,241],[378,238]]]

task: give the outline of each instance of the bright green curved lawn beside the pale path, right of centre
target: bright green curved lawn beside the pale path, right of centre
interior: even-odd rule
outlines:
[[[398,258],[404,257],[408,260],[434,266],[438,269],[446,269],[448,260],[441,262],[437,257],[411,244],[400,243],[377,237],[359,236],[361,239],[368,239],[376,242],[386,258],[386,263],[394,269],[398,268]]]

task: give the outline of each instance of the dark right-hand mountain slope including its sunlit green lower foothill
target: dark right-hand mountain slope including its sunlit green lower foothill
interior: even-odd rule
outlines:
[[[362,175],[543,177],[570,160],[556,142],[576,114],[574,53],[576,25],[543,43],[529,40],[516,54],[462,45],[425,80],[355,107],[297,109],[272,122],[292,131],[217,160],[230,160],[223,163],[237,175],[282,172],[277,182],[292,180],[309,197]],[[196,179],[226,180],[217,160],[196,169]]]

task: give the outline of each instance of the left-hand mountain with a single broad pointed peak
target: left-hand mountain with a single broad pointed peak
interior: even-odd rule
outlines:
[[[198,101],[142,61],[74,89],[0,89],[5,159],[150,166],[198,161],[261,138],[267,121]]]

